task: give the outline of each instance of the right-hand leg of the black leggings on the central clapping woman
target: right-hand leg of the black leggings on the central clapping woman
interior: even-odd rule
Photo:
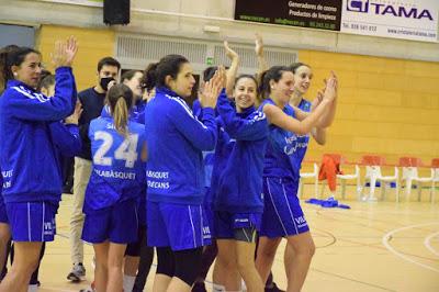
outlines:
[[[175,251],[175,277],[179,278],[188,285],[192,287],[192,284],[195,282],[196,277],[199,276],[202,254],[202,247]]]

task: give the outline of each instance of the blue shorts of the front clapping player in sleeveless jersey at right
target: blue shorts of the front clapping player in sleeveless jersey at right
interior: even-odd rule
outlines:
[[[263,178],[264,209],[260,236],[270,238],[309,231],[297,198],[299,183],[280,178]]]

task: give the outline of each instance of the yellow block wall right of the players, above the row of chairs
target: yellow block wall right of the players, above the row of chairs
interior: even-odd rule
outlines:
[[[376,153],[396,162],[439,156],[439,63],[300,50],[313,66],[311,97],[328,70],[340,80],[339,105],[327,144],[311,143],[307,158],[341,153],[348,160]]]

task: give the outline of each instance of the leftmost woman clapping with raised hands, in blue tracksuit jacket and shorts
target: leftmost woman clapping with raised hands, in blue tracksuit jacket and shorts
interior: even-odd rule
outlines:
[[[24,291],[38,263],[42,243],[54,240],[61,182],[54,180],[58,166],[48,122],[74,111],[76,86],[70,66],[76,53],[72,37],[55,46],[56,98],[35,91],[42,70],[37,50],[20,47],[0,56],[0,79],[7,81],[0,98],[0,167],[15,243],[14,262],[0,283],[2,292]]]

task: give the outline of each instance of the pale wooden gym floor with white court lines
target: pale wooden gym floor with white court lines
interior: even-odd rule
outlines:
[[[89,284],[66,280],[71,268],[71,195],[63,196],[58,236],[47,245],[40,272],[42,292],[79,291]],[[439,202],[345,203],[351,210],[322,209],[302,202],[317,247],[303,291],[439,291]],[[278,251],[273,274],[284,289],[283,250],[284,243]],[[92,279],[92,247],[86,246],[88,280]],[[155,266],[146,291],[151,290],[154,273]]]

